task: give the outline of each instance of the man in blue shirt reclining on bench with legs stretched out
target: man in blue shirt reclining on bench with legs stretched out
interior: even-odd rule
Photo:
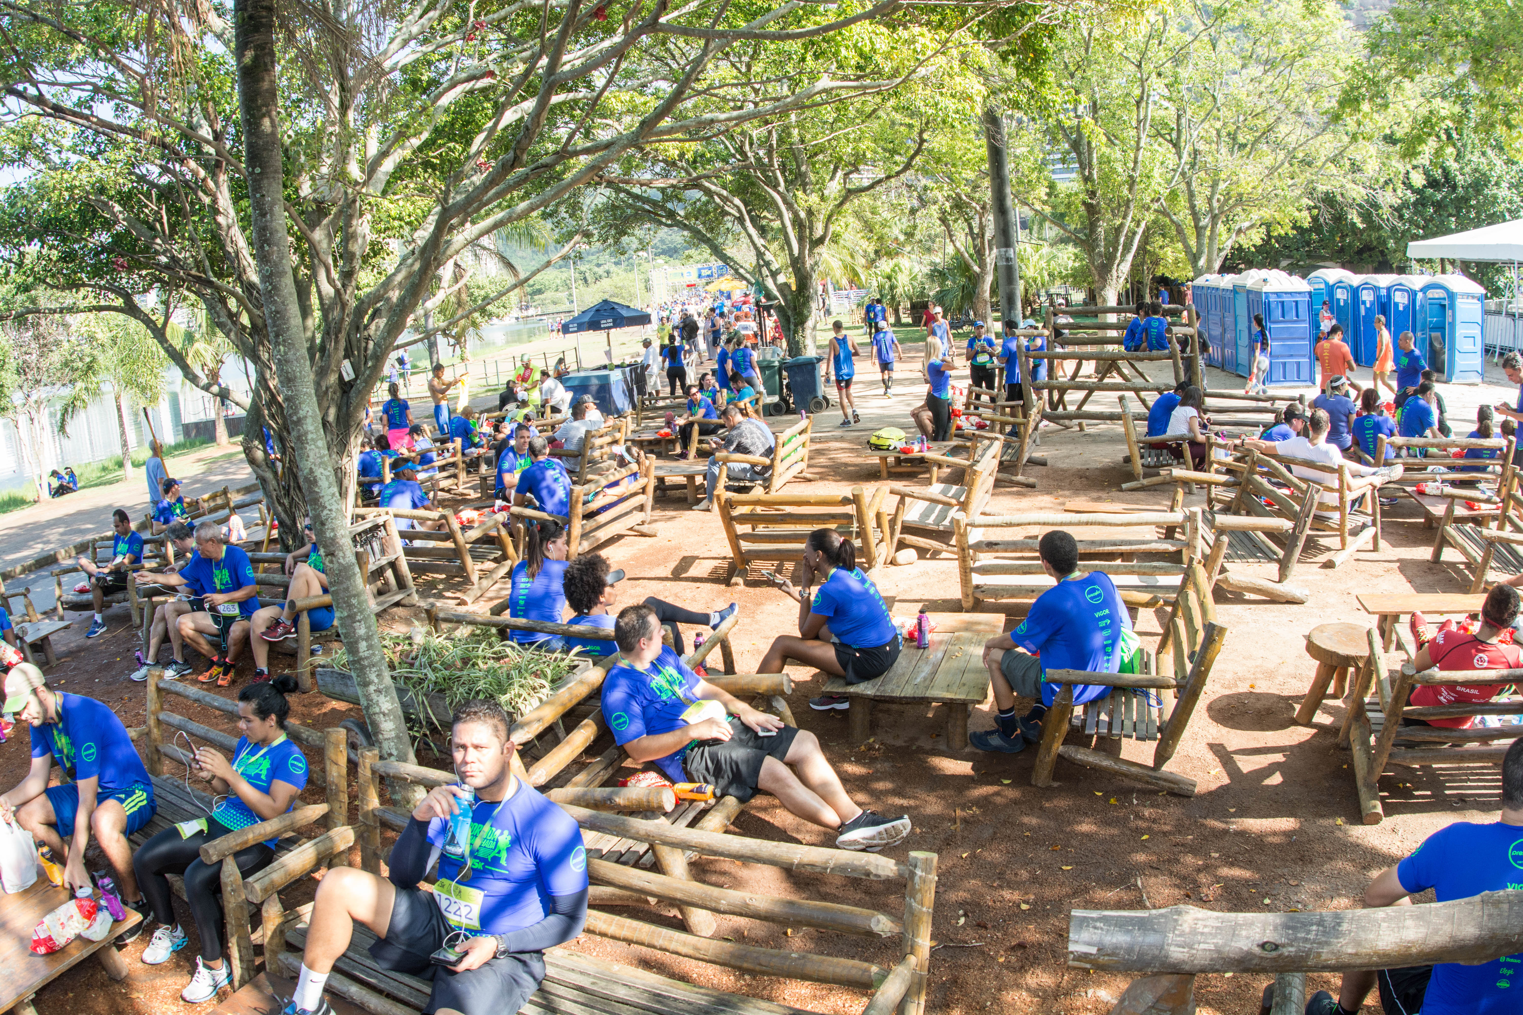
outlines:
[[[909,816],[883,817],[851,802],[819,740],[736,700],[661,644],[649,606],[626,606],[614,624],[624,660],[603,680],[614,741],[673,782],[708,782],[742,803],[766,790],[790,813],[836,832],[841,849],[877,852],[909,837]]]

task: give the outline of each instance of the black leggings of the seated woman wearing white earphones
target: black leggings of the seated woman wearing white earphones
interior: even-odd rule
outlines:
[[[148,899],[154,919],[164,927],[175,925],[175,910],[169,901],[169,878],[164,875],[178,873],[184,877],[186,901],[190,904],[190,919],[201,934],[201,959],[216,962],[222,957],[222,864],[203,863],[201,846],[221,838],[228,832],[221,822],[206,819],[206,831],[195,832],[189,838],[180,835],[178,828],[166,828],[133,854],[133,873],[137,875],[137,887]],[[274,860],[276,852],[257,843],[233,854],[233,863],[245,878],[256,870],[263,870]]]

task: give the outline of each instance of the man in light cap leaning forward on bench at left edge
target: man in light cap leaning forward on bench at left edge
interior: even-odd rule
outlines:
[[[122,901],[148,915],[133,873],[126,837],[154,816],[154,784],[122,720],[94,698],[61,694],[43,671],[17,663],[5,677],[0,712],[15,714],[32,727],[32,764],[9,793],[0,794],[0,820],[15,820],[40,846],[64,860],[64,886],[94,887],[85,869],[91,840],[111,863]],[[49,787],[53,764],[64,784]],[[139,925],[142,930],[142,925]],[[137,937],[128,931],[125,940]],[[119,939],[119,940],[122,940]]]

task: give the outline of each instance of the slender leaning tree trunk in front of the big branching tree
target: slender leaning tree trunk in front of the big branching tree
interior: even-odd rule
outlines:
[[[327,565],[338,632],[344,639],[370,735],[382,758],[411,762],[413,746],[402,718],[402,706],[381,650],[381,636],[369,607],[364,575],[349,540],[349,519],[338,492],[335,463],[323,434],[295,277],[291,271],[276,72],[276,5],[274,0],[238,0],[235,14],[238,100],[245,138],[244,161],[254,260],[259,265],[270,348],[286,415],[283,472],[289,476],[294,467],[306,498],[314,537]],[[245,435],[245,446],[250,440],[263,440],[257,426],[254,429],[254,434]]]

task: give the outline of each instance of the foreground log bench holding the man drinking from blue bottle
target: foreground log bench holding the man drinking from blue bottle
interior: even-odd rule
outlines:
[[[361,752],[359,761],[359,842],[362,864],[381,872],[381,828],[405,825],[408,814],[379,803],[378,779],[408,782],[419,787],[454,784],[452,773],[379,761],[378,752]],[[666,822],[626,817],[605,810],[638,810],[649,813],[669,803],[670,790],[621,788],[588,790],[567,787],[551,790],[550,799],[564,807],[588,832],[617,842],[643,843],[658,855],[682,863],[684,875],[655,873],[631,869],[592,855],[588,848],[588,877],[592,881],[585,933],[653,950],[667,960],[698,960],[728,966],[749,974],[780,975],[792,980],[813,980],[857,988],[871,994],[868,1015],[921,1015],[924,1007],[931,957],[931,921],[935,905],[937,855],[911,852],[900,863],[889,857],[847,852],[822,846],[800,846],[726,835],[714,831],[676,828]],[[591,810],[591,803],[600,810]],[[685,857],[726,857],[742,863],[762,863],[784,870],[832,873],[865,880],[905,880],[903,915],[841,905],[813,899],[781,899],[755,892],[717,889],[685,877]],[[271,896],[276,898],[276,896]],[[850,934],[897,937],[902,959],[889,968],[856,959],[809,954],[801,950],[780,951],[714,940],[708,936],[682,933],[615,916],[600,907],[647,905],[649,899],[675,902],[684,913],[702,913],[713,922],[713,913],[762,919],[787,927],[815,927]],[[279,972],[294,975],[300,956],[285,951],[289,943],[302,948],[308,930],[306,907],[285,913],[279,901],[263,910],[268,963]],[[429,985],[425,980],[382,969],[370,957],[373,934],[361,927],[349,950],[338,959],[329,975],[327,989],[376,1015],[401,1015],[423,1007]],[[731,1012],[734,1015],[807,1015],[771,1001],[691,986],[678,980],[621,966],[567,948],[551,948],[545,954],[547,974],[541,989],[522,1009],[532,1015],[603,1013],[603,1015],[672,1015],[672,1012]]]

